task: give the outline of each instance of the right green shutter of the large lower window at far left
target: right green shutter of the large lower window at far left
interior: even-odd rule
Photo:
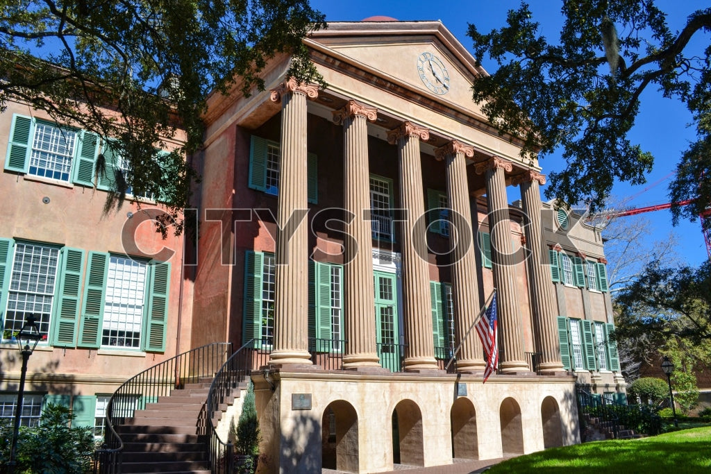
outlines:
[[[63,247],[57,309],[53,323],[52,345],[73,348],[77,339],[77,321],[84,273],[84,251]]]

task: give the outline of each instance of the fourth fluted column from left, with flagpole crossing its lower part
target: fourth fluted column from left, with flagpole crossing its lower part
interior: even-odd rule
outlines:
[[[479,313],[479,284],[476,279],[474,227],[471,225],[469,185],[466,180],[466,156],[474,156],[474,147],[452,140],[435,150],[435,156],[447,164],[447,200],[451,209],[449,242],[451,244],[452,298],[454,332],[461,349],[456,359],[458,372],[483,372],[481,340],[471,329]],[[467,237],[468,239],[464,239]],[[469,334],[467,332],[469,331]],[[465,337],[466,336],[466,337]]]

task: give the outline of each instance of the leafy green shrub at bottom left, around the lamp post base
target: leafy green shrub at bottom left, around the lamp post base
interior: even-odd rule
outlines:
[[[90,427],[70,428],[73,414],[48,404],[39,426],[22,426],[17,441],[16,473],[81,474],[92,472],[94,433]],[[0,420],[0,473],[6,472],[13,431],[12,419]]]

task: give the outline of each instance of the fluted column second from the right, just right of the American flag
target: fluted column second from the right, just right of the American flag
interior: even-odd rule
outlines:
[[[476,173],[486,177],[488,224],[491,232],[491,262],[493,284],[498,308],[498,342],[503,354],[504,373],[530,372],[523,350],[523,325],[518,311],[518,291],[511,247],[511,226],[506,198],[504,173],[513,170],[513,163],[493,156],[476,164]]]

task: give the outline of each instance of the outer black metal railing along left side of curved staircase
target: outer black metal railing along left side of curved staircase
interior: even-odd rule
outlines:
[[[188,350],[144,370],[128,379],[109,399],[106,409],[104,444],[94,453],[94,472],[113,474],[121,472],[124,443],[116,432],[134,411],[144,409],[146,403],[157,402],[158,397],[170,394],[202,377],[213,377],[228,359],[232,343],[212,343]]]

